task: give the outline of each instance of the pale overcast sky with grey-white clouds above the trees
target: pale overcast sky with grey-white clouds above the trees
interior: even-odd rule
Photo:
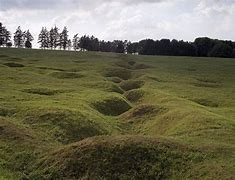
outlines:
[[[0,22],[11,32],[67,26],[70,38],[235,40],[235,0],[0,0]],[[34,41],[34,44],[36,43]]]

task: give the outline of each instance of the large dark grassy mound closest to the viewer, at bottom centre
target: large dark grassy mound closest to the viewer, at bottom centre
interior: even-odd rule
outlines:
[[[67,145],[43,156],[32,179],[186,178],[199,152],[181,144],[139,136],[101,136]]]

